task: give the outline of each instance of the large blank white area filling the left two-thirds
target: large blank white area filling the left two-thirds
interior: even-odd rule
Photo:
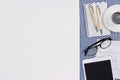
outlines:
[[[79,0],[0,1],[0,80],[79,80]]]

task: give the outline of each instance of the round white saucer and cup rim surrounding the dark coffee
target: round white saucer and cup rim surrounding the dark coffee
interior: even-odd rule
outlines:
[[[103,15],[103,24],[111,31],[120,32],[120,24],[115,24],[112,21],[112,15],[116,12],[120,13],[120,5],[113,5],[109,7]]]

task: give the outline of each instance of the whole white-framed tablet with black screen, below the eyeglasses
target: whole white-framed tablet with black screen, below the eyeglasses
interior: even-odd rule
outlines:
[[[85,80],[114,80],[110,57],[83,60]]]

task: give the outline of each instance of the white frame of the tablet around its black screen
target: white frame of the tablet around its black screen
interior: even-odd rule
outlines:
[[[99,61],[105,61],[105,60],[110,60],[110,62],[111,62],[111,68],[112,68],[113,80],[115,80],[113,66],[112,66],[112,59],[111,59],[110,56],[107,56],[107,57],[97,57],[97,58],[83,60],[82,65],[83,65],[84,79],[87,80],[86,79],[86,73],[85,73],[85,66],[84,66],[84,64],[86,64],[86,63],[93,63],[93,62],[99,62]]]

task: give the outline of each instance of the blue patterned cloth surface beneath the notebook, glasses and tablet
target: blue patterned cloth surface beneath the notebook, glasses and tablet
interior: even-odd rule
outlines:
[[[102,39],[105,37],[111,37],[114,40],[120,40],[120,33],[111,32],[111,35],[102,36],[102,37],[93,37],[88,38],[86,35],[86,26],[85,26],[85,18],[84,18],[84,9],[83,4],[92,3],[92,2],[101,2],[105,1],[108,3],[108,7],[114,4],[120,4],[120,0],[80,0],[80,80],[84,80],[83,68],[82,68],[82,60],[85,59],[83,50],[96,42],[97,39]]]

